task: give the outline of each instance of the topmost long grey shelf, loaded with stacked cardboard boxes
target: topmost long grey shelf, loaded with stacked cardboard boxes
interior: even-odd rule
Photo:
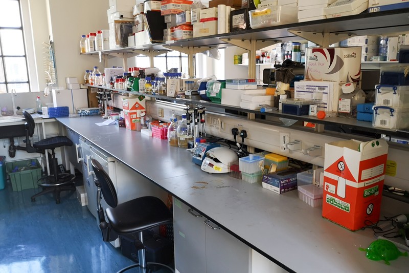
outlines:
[[[291,32],[292,33],[291,33]],[[364,12],[357,15],[315,20],[303,23],[293,23],[261,29],[249,29],[229,32],[206,37],[190,38],[166,43],[148,44],[124,49],[103,50],[102,53],[131,53],[136,50],[168,50],[169,47],[217,47],[229,46],[222,39],[238,40],[299,40],[302,32],[315,33],[322,36],[329,34],[346,35],[387,35],[409,31],[409,9],[388,10],[381,12]],[[124,52],[118,52],[118,51]],[[88,52],[84,54],[98,54]]]

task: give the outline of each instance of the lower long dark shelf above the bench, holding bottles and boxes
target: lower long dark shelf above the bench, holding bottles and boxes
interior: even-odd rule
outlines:
[[[143,96],[146,96],[146,97],[152,97],[152,98],[165,100],[165,101],[178,103],[178,104],[196,104],[196,105],[213,107],[213,108],[233,110],[233,111],[238,111],[238,112],[261,114],[261,115],[264,115],[264,116],[274,116],[274,117],[280,117],[280,118],[288,118],[288,119],[312,122],[312,123],[317,123],[317,124],[331,125],[332,127],[339,128],[341,131],[352,130],[352,131],[356,131],[356,132],[367,132],[367,133],[372,133],[372,134],[385,134],[385,135],[391,135],[391,136],[395,136],[395,137],[409,138],[409,132],[374,128],[374,127],[372,127],[372,122],[359,121],[359,120],[350,119],[350,118],[334,117],[334,118],[319,119],[319,118],[316,118],[316,117],[313,117],[313,116],[297,116],[297,115],[283,114],[280,111],[261,113],[260,110],[243,109],[243,108],[240,108],[240,107],[228,106],[228,105],[209,102],[209,101],[205,101],[205,100],[193,100],[193,99],[187,99],[187,98],[174,98],[174,97],[168,97],[168,96],[162,96],[162,95],[153,95],[153,94],[139,93],[139,92],[133,92],[133,91],[124,91],[124,90],[118,90],[118,89],[112,89],[112,88],[100,87],[100,86],[89,86],[89,87],[96,87],[96,88],[101,88],[101,89],[110,90],[110,91],[114,91],[114,92],[120,92],[120,93],[143,95]]]

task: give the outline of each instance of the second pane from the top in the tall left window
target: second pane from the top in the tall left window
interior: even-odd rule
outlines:
[[[2,29],[0,30],[2,48],[4,55],[24,56],[24,42],[22,39],[22,30],[20,29]]]

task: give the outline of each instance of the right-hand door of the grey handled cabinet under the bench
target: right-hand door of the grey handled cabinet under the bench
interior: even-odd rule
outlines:
[[[251,248],[206,221],[206,272],[248,273]]]

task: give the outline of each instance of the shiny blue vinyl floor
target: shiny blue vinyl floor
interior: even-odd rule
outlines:
[[[61,193],[60,204],[51,194],[31,202],[39,191],[13,192],[9,181],[0,191],[1,273],[117,272],[133,264],[102,241],[96,219],[75,192]]]

